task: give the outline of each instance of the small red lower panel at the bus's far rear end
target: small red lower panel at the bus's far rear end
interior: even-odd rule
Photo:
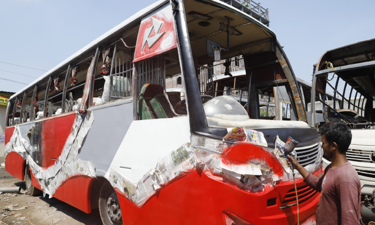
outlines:
[[[5,157],[5,169],[12,176],[23,180],[25,160],[15,151],[10,152]]]

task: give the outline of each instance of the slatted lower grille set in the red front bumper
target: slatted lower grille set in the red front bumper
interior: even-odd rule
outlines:
[[[300,203],[310,199],[316,193],[317,193],[316,190],[313,190],[311,187],[309,187],[307,185],[297,187],[298,203],[300,204]],[[293,205],[296,205],[296,204],[297,204],[297,200],[296,200],[296,197],[295,197],[295,190],[294,190],[294,187],[293,187],[286,192],[284,198],[282,199],[280,209],[290,207],[290,206],[293,206]]]

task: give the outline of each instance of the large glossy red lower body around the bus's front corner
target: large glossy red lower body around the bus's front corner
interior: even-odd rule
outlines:
[[[297,186],[305,185],[299,179]],[[281,183],[263,193],[250,193],[193,171],[168,184],[151,197],[141,208],[119,198],[123,224],[219,224],[226,225],[223,212],[229,212],[249,224],[295,224],[296,206],[279,209],[280,198],[293,188],[293,182]],[[276,197],[277,204],[266,206],[268,198]],[[299,205],[299,217],[313,214],[320,194]]]

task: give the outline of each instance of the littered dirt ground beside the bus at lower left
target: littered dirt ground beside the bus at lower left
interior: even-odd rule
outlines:
[[[5,224],[92,224],[102,225],[98,209],[91,210],[87,214],[65,202],[56,198],[48,198],[48,195],[30,196],[27,194],[24,181],[11,176],[5,171],[4,166],[0,166],[0,187],[20,186],[21,192],[24,193],[1,193],[0,194],[0,218],[5,215],[13,215],[2,218]],[[6,206],[11,205],[13,209],[21,210],[8,211]],[[27,208],[24,208],[26,206]],[[30,221],[28,222],[27,214],[29,213]],[[0,224],[4,224],[0,223]]]

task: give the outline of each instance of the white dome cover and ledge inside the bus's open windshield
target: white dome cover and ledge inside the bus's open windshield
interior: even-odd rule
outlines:
[[[244,107],[231,96],[217,96],[203,105],[208,126],[266,128],[310,128],[302,121],[250,119]]]

